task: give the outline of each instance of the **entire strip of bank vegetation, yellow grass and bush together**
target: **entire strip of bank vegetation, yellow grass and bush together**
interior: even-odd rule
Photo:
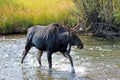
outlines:
[[[78,16],[83,32],[120,37],[120,0],[0,0],[0,34],[25,33],[32,25],[52,22],[74,25]]]

